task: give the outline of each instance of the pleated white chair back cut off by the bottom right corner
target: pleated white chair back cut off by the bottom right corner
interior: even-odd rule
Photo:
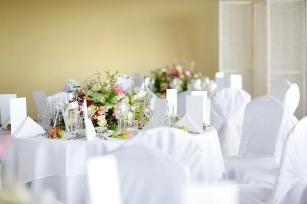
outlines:
[[[307,203],[307,117],[293,127],[284,143],[280,168],[268,203]],[[302,199],[301,199],[302,198]]]

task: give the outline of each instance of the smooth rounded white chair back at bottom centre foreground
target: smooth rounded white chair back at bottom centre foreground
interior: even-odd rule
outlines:
[[[188,177],[179,162],[159,149],[137,145],[120,148],[112,155],[118,161],[124,204],[181,203]]]

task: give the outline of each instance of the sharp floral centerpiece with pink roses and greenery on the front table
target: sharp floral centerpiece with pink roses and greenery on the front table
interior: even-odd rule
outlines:
[[[117,103],[126,103],[129,106],[134,106],[136,109],[135,119],[139,120],[139,127],[143,127],[148,119],[145,117],[143,110],[149,101],[149,95],[145,91],[136,91],[133,87],[129,90],[124,90],[122,84],[119,84],[118,71],[112,73],[107,67],[105,70],[106,80],[101,82],[100,73],[95,73],[91,78],[87,78],[82,86],[76,88],[78,94],[79,106],[82,106],[86,99],[87,107],[92,109],[92,122],[95,127],[107,127],[108,130],[117,130],[117,117],[114,107]],[[72,84],[72,83],[71,83]]]

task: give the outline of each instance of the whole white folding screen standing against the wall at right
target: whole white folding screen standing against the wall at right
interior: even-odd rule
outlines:
[[[305,0],[220,2],[220,71],[242,73],[253,97],[281,79],[298,84],[298,118],[306,115],[305,10]]]

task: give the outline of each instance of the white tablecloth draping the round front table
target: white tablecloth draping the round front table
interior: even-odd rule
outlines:
[[[3,132],[0,134],[4,134]],[[17,178],[19,184],[28,184],[32,191],[53,190],[65,204],[83,204],[86,200],[86,162],[121,146],[134,144],[134,139],[105,137],[107,141],[94,138],[72,138],[65,134],[62,139],[38,136],[12,138],[7,155],[8,178]],[[136,135],[135,137],[138,137]],[[225,173],[220,141],[214,127],[207,127],[203,134],[191,134],[204,151],[204,168],[207,183],[216,183]],[[8,174],[9,173],[9,174]],[[101,172],[103,173],[103,172]]]

